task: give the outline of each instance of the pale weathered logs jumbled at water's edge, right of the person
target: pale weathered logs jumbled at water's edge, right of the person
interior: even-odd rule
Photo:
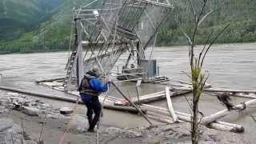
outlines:
[[[172,92],[170,94],[170,91]],[[237,97],[242,97],[242,98],[253,98],[250,101],[247,102],[243,102],[242,104],[233,106],[233,109],[231,110],[221,110],[216,114],[211,114],[209,116],[206,117],[202,117],[199,118],[200,119],[200,123],[204,126],[210,127],[210,128],[214,128],[217,130],[228,130],[230,132],[234,132],[234,133],[242,133],[244,132],[244,128],[243,126],[237,125],[237,124],[233,124],[233,123],[229,123],[229,122],[222,122],[219,121],[218,119],[225,117],[227,114],[231,114],[234,111],[237,110],[244,110],[247,106],[250,106],[252,104],[256,103],[256,97],[254,96],[254,94],[256,94],[255,90],[216,90],[216,89],[206,89],[206,92],[211,92],[214,93],[215,95],[218,94],[230,94],[230,95],[234,95]],[[172,104],[171,104],[171,100],[170,98],[172,96],[176,96],[178,94],[184,93],[184,92],[191,92],[190,88],[168,88],[166,87],[166,91],[161,91],[158,93],[154,93],[154,94],[147,94],[144,96],[139,97],[139,101],[138,98],[132,98],[132,102],[134,103],[144,103],[140,105],[140,108],[142,108],[142,110],[146,110],[146,115],[148,118],[154,119],[158,122],[165,122],[165,123],[173,123],[173,122],[191,122],[191,114],[186,114],[186,113],[182,113],[182,112],[178,112],[178,111],[174,111]],[[212,95],[214,95],[212,94]],[[146,102],[151,102],[151,99],[155,100],[155,98],[159,98],[162,99],[166,97],[167,100],[167,104],[168,104],[168,109],[159,107],[159,106],[152,106],[152,105],[146,105]],[[114,102],[114,105],[118,105],[118,106],[127,106],[129,105],[129,102]]]

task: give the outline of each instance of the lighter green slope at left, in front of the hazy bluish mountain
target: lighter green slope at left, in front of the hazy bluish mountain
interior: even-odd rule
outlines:
[[[0,41],[0,53],[1,51],[2,54],[6,54],[16,52],[63,50],[67,48],[69,42],[68,37],[70,35],[71,10],[74,6],[80,6],[85,1],[45,1],[58,1],[62,2],[62,4],[58,6],[57,2],[56,6],[52,6],[52,9],[48,10],[48,12],[40,18],[40,21],[37,21],[38,24],[35,24],[34,27],[30,27],[30,30],[24,30],[25,32],[22,32],[18,38],[15,38],[14,40],[4,39],[2,42]],[[39,2],[44,2],[44,0],[39,0],[38,5],[40,4]],[[90,0],[88,2],[90,2]],[[43,6],[42,3],[40,6]]]

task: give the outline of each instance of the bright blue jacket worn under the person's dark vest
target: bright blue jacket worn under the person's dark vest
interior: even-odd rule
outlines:
[[[93,90],[96,90],[100,93],[106,92],[108,89],[108,84],[103,83],[99,78],[97,77],[91,77],[89,80],[90,88]],[[97,96],[91,96],[89,94],[81,94],[82,102],[93,102],[95,98],[98,99]]]

